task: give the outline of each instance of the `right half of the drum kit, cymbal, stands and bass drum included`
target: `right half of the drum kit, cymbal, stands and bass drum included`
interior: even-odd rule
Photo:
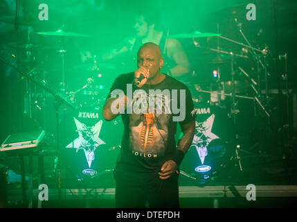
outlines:
[[[181,175],[195,180],[199,185],[224,175],[226,167],[236,167],[238,172],[243,171],[240,151],[244,150],[240,148],[239,137],[240,130],[246,128],[246,125],[240,119],[241,112],[251,111],[250,122],[255,121],[259,114],[266,116],[269,121],[271,115],[269,95],[260,93],[260,84],[262,87],[263,82],[265,92],[268,92],[269,49],[256,49],[251,46],[241,28],[240,33],[246,44],[219,33],[198,31],[167,37],[192,39],[195,47],[204,51],[197,61],[201,71],[193,71],[192,76],[184,81],[192,93],[197,117],[195,137],[188,151],[190,154],[186,155],[181,164]],[[202,37],[217,38],[215,49],[201,46],[197,39]],[[222,50],[219,40],[231,42],[242,50],[239,53]],[[251,63],[255,68],[251,69]],[[249,104],[249,110],[240,108],[243,103]]]

